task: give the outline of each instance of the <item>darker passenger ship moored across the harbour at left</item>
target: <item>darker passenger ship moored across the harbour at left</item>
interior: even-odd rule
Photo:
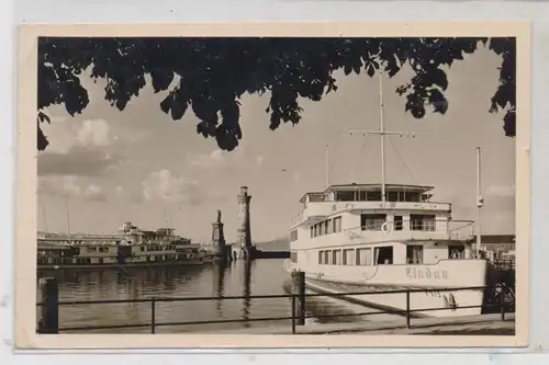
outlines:
[[[37,237],[38,270],[200,265],[210,259],[200,244],[175,235],[172,228],[141,230],[132,223],[125,223],[119,235]]]

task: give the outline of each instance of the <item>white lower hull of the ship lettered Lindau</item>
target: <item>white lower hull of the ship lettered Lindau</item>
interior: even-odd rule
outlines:
[[[305,272],[305,284],[314,292],[344,294],[339,298],[365,307],[406,310],[406,294],[383,292],[480,287],[485,285],[484,260],[441,260],[432,265],[299,266],[287,262],[287,270]],[[419,275],[422,274],[422,275]],[[436,274],[436,276],[435,276]],[[352,295],[351,293],[374,293]],[[410,294],[410,308],[416,317],[455,317],[480,315],[483,289],[416,292]],[[475,307],[475,308],[467,308]],[[421,309],[447,308],[441,310]]]

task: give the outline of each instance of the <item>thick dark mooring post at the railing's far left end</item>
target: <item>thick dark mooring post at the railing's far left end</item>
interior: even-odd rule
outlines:
[[[38,333],[59,332],[59,288],[55,277],[38,281],[42,307],[38,317]]]

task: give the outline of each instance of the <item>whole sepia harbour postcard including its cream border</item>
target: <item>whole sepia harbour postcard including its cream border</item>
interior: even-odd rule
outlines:
[[[525,27],[326,26],[29,32],[36,335],[518,341]]]

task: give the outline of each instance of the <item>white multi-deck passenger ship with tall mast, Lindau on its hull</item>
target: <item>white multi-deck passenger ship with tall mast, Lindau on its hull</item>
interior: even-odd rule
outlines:
[[[381,92],[380,100],[382,105]],[[481,313],[484,290],[479,287],[486,284],[488,261],[479,252],[480,148],[477,224],[457,221],[450,203],[432,202],[433,186],[385,184],[383,138],[401,133],[385,132],[381,116],[380,132],[368,134],[381,136],[381,184],[306,193],[292,223],[285,269],[304,272],[311,290],[340,294],[369,308],[405,311],[410,306],[415,317]],[[472,288],[411,292],[410,298],[405,292],[384,293],[459,287]]]

